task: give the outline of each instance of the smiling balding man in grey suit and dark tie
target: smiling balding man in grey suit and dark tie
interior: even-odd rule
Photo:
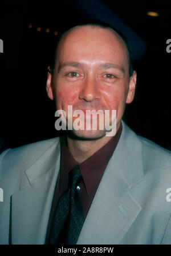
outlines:
[[[68,202],[65,196],[75,166],[82,174],[75,195],[83,221],[74,243],[170,243],[170,152],[137,136],[121,121],[135,86],[127,42],[116,31],[89,23],[63,35],[47,77],[48,97],[56,101],[56,109],[65,111],[67,125],[68,105],[85,115],[92,109],[116,110],[116,135],[106,136],[99,120],[96,130],[73,127],[62,139],[3,152],[1,243],[72,243],[64,238],[70,232],[70,237],[75,235],[80,215],[70,231],[70,223],[63,229],[66,222],[58,216],[68,218],[67,211],[72,215],[63,199]]]

